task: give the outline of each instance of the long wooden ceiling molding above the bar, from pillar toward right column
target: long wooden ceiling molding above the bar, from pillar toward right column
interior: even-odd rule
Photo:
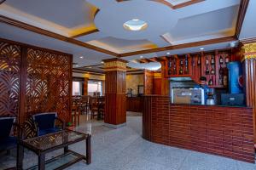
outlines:
[[[189,43],[183,43],[183,44],[178,44],[173,46],[167,46],[163,48],[152,48],[152,49],[145,49],[141,51],[129,52],[125,54],[119,54],[119,57],[127,57],[127,56],[138,55],[138,54],[149,54],[149,53],[155,53],[155,52],[173,50],[173,49],[181,49],[181,48],[192,48],[192,47],[198,47],[198,46],[220,43],[220,42],[232,42],[236,40],[237,40],[236,36],[220,37],[220,38],[215,38],[211,40],[204,40],[201,42],[189,42]]]

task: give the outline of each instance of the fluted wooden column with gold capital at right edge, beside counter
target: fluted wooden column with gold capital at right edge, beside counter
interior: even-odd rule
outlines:
[[[256,42],[244,44],[242,47],[247,106],[253,107],[254,142],[256,142]]]

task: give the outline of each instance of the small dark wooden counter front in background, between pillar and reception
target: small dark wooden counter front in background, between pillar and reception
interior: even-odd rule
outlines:
[[[142,97],[126,97],[126,111],[142,112]]]

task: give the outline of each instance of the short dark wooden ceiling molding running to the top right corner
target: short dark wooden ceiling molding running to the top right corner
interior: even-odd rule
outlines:
[[[237,17],[237,20],[236,20],[236,37],[240,36],[241,26],[242,26],[244,17],[247,13],[247,7],[248,7],[248,4],[249,4],[249,1],[250,0],[241,0],[239,12],[238,12],[238,17]]]

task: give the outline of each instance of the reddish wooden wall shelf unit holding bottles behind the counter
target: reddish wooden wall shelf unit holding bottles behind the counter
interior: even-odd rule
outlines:
[[[180,69],[180,61],[183,59],[183,71],[184,71],[184,59],[188,57],[188,74],[178,74]],[[220,56],[223,57],[224,63],[223,65],[219,64]],[[211,64],[211,59],[214,58],[214,65]],[[201,52],[198,54],[183,54],[183,55],[173,55],[170,57],[166,57],[166,77],[191,77],[195,82],[200,82],[200,77],[207,77],[207,82],[209,82],[210,78],[212,78],[213,84],[209,86],[210,88],[227,88],[227,86],[219,84],[220,74],[219,70],[222,68],[226,68],[225,59],[229,58],[231,61],[232,55],[230,50],[224,51],[212,51],[212,52]],[[206,59],[208,58],[209,64],[206,65]],[[198,59],[200,59],[200,65],[198,65]],[[170,64],[171,62],[171,64]],[[171,67],[170,67],[171,65]],[[206,74],[206,69],[209,69],[210,73]],[[176,68],[176,71],[175,69]],[[214,74],[211,74],[212,68],[214,69]]]

